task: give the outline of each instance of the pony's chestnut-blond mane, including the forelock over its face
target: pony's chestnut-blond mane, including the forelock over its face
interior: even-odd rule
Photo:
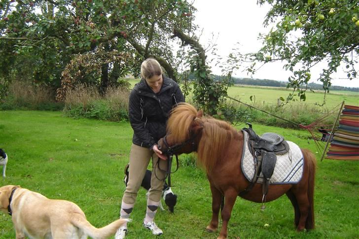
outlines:
[[[228,122],[212,117],[197,118],[197,109],[189,103],[180,103],[172,110],[167,122],[167,132],[172,134],[177,143],[184,142],[190,137],[194,119],[203,125],[197,148],[198,160],[206,171],[210,172],[223,157],[231,141],[238,138],[239,134]]]

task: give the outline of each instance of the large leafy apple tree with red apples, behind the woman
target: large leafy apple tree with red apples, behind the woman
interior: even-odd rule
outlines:
[[[92,72],[100,72],[99,85],[106,88],[120,75],[138,74],[151,56],[176,79],[171,36],[175,27],[194,31],[192,11],[185,0],[0,0],[1,82],[26,70],[22,77],[59,87],[62,72],[72,72],[68,65],[75,62],[73,69],[101,68]],[[126,64],[108,61],[125,53]],[[76,57],[97,62],[79,66],[80,60],[71,61]]]

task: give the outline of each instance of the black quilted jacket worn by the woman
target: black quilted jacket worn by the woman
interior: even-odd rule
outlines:
[[[184,97],[179,85],[164,75],[162,88],[153,93],[144,79],[135,85],[130,94],[129,116],[134,135],[132,142],[152,149],[166,135],[166,123],[171,109]]]

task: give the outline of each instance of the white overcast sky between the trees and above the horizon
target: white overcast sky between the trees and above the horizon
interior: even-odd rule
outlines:
[[[267,33],[269,29],[263,27],[263,20],[269,10],[269,6],[258,6],[256,0],[194,0],[194,6],[197,8],[195,13],[195,23],[203,29],[200,42],[208,45],[212,39],[212,34],[217,37],[217,54],[227,56],[232,48],[240,43],[241,53],[249,53],[258,50],[261,42],[257,40],[259,33]],[[207,53],[209,54],[209,53]],[[211,57],[211,56],[209,56]],[[261,79],[272,79],[287,81],[290,71],[283,69],[283,63],[269,63],[260,68],[253,77]],[[317,77],[321,66],[311,70],[312,81],[317,81]],[[358,67],[359,68],[359,67]],[[219,68],[212,68],[215,74],[221,74]],[[242,72],[243,68],[235,72],[235,76],[248,77],[246,72]],[[346,78],[346,73],[338,69],[338,73],[334,76],[332,84],[347,87],[359,87],[359,79],[352,81]]]

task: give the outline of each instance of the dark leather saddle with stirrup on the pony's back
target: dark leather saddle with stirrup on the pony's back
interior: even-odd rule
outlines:
[[[250,123],[249,128],[243,128],[249,135],[248,147],[253,155],[255,172],[249,186],[240,193],[240,196],[248,193],[257,182],[259,174],[263,174],[262,203],[265,202],[265,196],[268,193],[269,179],[272,177],[274,167],[277,162],[277,154],[286,154],[289,151],[289,145],[283,136],[275,133],[264,133],[257,135]]]

